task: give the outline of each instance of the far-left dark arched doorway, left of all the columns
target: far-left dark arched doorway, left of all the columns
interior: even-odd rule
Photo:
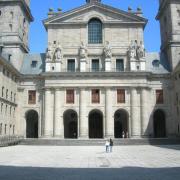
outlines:
[[[35,110],[26,113],[26,138],[38,138],[38,113]]]

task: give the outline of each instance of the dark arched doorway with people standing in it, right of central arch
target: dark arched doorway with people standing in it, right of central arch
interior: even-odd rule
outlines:
[[[128,136],[128,113],[123,110],[117,110],[114,114],[114,137],[127,138]]]

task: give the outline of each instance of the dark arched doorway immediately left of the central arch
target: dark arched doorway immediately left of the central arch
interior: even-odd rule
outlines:
[[[64,138],[76,139],[78,137],[78,115],[74,110],[64,112]]]

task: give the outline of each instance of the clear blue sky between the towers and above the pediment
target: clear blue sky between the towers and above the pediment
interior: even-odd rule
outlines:
[[[141,7],[144,17],[148,19],[144,32],[146,50],[148,52],[159,51],[160,29],[159,22],[155,20],[159,0],[102,0],[102,2],[125,11],[127,11],[129,6],[133,10]],[[47,33],[42,20],[47,18],[49,8],[53,8],[56,11],[60,7],[64,12],[84,3],[85,0],[31,0],[31,11],[35,19],[30,27],[31,53],[45,52]]]

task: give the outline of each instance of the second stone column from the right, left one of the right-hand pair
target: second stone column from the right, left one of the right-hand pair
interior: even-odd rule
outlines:
[[[136,138],[141,135],[140,107],[137,99],[137,89],[131,89],[131,136]]]

